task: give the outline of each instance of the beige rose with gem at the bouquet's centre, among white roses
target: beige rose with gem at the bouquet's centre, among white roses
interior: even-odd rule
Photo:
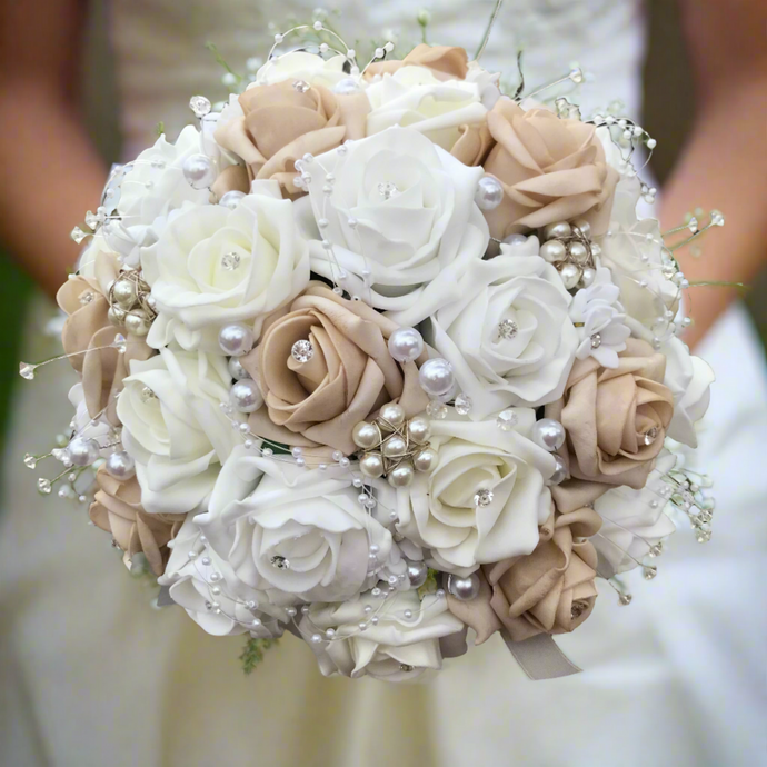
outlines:
[[[287,310],[265,322],[261,341],[242,363],[256,378],[265,406],[250,416],[255,434],[301,447],[357,450],[353,427],[382,405],[398,401],[408,418],[428,404],[416,362],[399,365],[387,341],[398,328],[362,301],[310,286]],[[291,351],[309,341],[311,358]]]

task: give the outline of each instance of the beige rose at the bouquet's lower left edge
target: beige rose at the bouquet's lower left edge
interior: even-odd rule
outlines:
[[[111,532],[128,558],[142,552],[157,576],[165,572],[170,551],[186,514],[147,514],[141,506],[141,488],[136,477],[120,481],[101,467],[96,475],[99,489],[90,507],[91,521]]]

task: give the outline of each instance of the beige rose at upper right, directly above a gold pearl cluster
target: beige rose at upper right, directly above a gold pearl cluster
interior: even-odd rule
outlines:
[[[488,114],[496,146],[485,170],[504,186],[504,201],[486,213],[492,237],[585,218],[595,236],[609,226],[618,172],[594,126],[547,109],[525,111],[501,99]]]

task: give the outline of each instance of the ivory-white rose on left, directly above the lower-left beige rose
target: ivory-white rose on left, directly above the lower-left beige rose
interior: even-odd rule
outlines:
[[[219,407],[229,398],[226,357],[171,351],[132,360],[117,404],[122,444],[136,460],[150,514],[205,508],[239,439]]]

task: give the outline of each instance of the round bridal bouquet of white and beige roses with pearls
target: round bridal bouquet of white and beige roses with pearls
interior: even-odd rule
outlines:
[[[220,110],[195,96],[73,230],[80,382],[39,489],[246,658],[288,630],[325,675],[407,680],[470,628],[572,673],[551,637],[597,579],[628,604],[671,517],[710,537],[678,447],[714,376],[678,338],[669,232],[636,212],[655,142],[501,94],[461,48],[360,67],[317,22],[329,42],[281,52],[305,29]]]

